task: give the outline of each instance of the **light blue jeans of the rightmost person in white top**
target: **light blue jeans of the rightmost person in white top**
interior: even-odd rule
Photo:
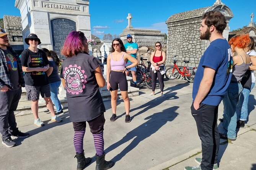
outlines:
[[[240,95],[239,102],[238,102],[238,109],[237,111],[237,117],[240,118],[240,120],[246,121],[248,117],[248,99],[251,90],[253,89],[255,83],[251,83],[251,89],[243,88],[243,91]],[[241,112],[240,112],[241,109]]]

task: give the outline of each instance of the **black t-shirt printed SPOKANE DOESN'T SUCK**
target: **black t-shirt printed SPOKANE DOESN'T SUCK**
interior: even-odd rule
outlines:
[[[49,64],[46,54],[40,49],[36,53],[26,49],[21,53],[20,59],[22,66],[29,68],[44,67]],[[25,84],[30,86],[44,86],[49,84],[47,74],[43,71],[25,72],[24,80]]]

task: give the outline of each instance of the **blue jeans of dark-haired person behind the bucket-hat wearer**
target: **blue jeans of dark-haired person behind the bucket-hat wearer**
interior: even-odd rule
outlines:
[[[60,83],[61,83],[61,81],[49,84],[50,89],[51,89],[51,99],[52,99],[53,104],[56,107],[57,112],[60,112],[62,110],[60,100],[58,98],[58,88],[60,87]]]

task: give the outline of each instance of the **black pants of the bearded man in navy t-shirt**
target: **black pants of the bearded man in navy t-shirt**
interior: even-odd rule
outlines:
[[[218,133],[217,119],[218,106],[200,104],[195,109],[192,103],[191,113],[196,120],[197,132],[202,143],[202,170],[212,170],[217,164],[220,135]]]

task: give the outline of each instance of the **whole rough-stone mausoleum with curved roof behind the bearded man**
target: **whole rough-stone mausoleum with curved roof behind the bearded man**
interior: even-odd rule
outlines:
[[[221,0],[216,0],[213,6],[207,6],[192,11],[173,14],[165,22],[168,27],[166,65],[172,64],[172,57],[176,59],[189,60],[189,65],[198,66],[201,56],[209,46],[208,40],[201,40],[199,27],[202,15],[208,11],[221,11],[229,23],[233,13]],[[223,37],[228,40],[229,26],[223,31]],[[179,63],[183,64],[183,63]]]

